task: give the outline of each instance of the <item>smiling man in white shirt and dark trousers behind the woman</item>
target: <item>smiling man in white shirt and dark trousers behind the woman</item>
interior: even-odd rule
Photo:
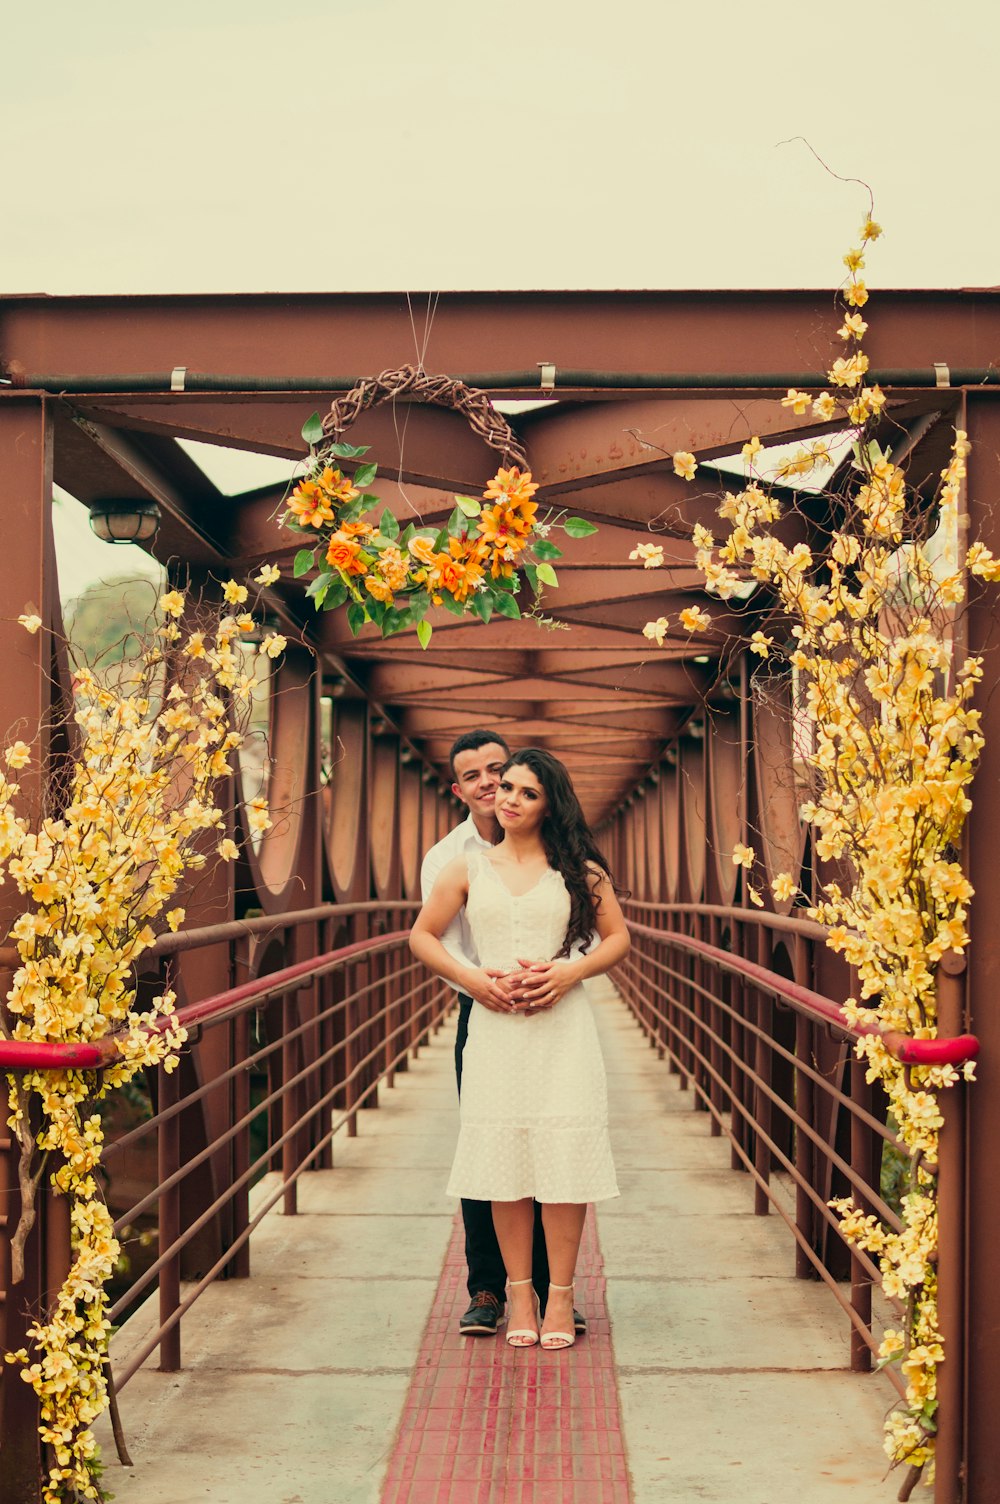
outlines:
[[[496,731],[466,731],[451,747],[451,793],[456,799],[462,800],[469,814],[460,826],[450,830],[424,857],[420,871],[420,887],[424,901],[448,862],[453,862],[466,851],[492,847],[496,842],[499,826],[493,814],[493,800],[499,785],[501,769],[508,757],[510,747]],[[457,961],[463,961],[468,966],[478,966],[465,910],[456,914],[442,934],[441,943]],[[469,1033],[472,1005],[478,1002],[486,1008],[504,1006],[510,997],[508,988],[510,984],[498,975],[490,978],[489,996],[474,999],[465,993],[459,993],[459,1033],[454,1047],[459,1093],[462,1093],[462,1054]],[[463,1199],[462,1221],[465,1224],[465,1259],[469,1269],[468,1289],[471,1304],[459,1319],[459,1331],[465,1337],[495,1336],[498,1324],[504,1316],[507,1271],[493,1229],[493,1208],[490,1202]],[[538,1206],[535,1206],[532,1281],[544,1310],[549,1292],[549,1260]],[[576,1330],[586,1331],[586,1322],[579,1311],[574,1311],[573,1316]]]

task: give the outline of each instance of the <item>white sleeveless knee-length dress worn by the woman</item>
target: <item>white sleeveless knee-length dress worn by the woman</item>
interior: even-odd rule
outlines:
[[[550,961],[570,895],[549,868],[510,892],[486,851],[469,853],[466,916],[484,967]],[[483,1202],[600,1202],[618,1196],[605,1062],[582,987],[540,1014],[475,1005],[462,1062],[462,1128],[450,1196]]]

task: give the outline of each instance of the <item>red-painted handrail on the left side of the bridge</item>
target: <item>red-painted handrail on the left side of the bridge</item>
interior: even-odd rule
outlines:
[[[269,997],[287,993],[296,982],[311,981],[325,972],[332,972],[344,961],[356,955],[377,955],[391,946],[406,940],[409,929],[394,929],[386,935],[374,935],[370,940],[355,940],[343,945],[337,951],[326,951],[323,955],[308,961],[296,961],[280,972],[268,972],[253,982],[241,982],[224,993],[203,997],[198,1003],[188,1003],[176,1014],[158,1018],[152,1030],[164,1033],[176,1024],[194,1027],[195,1024],[217,1023],[230,1014],[242,1012],[244,1008],[263,1003]],[[0,1069],[9,1071],[95,1071],[102,1065],[110,1065],[117,1054],[114,1035],[99,1039],[96,1044],[35,1044],[27,1039],[0,1039]]]

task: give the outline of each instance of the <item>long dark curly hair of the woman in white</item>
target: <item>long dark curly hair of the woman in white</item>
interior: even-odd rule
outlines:
[[[501,778],[508,769],[519,766],[535,775],[546,796],[540,835],[549,866],[561,874],[570,895],[570,922],[559,951],[559,955],[568,955],[577,942],[586,942],[592,935],[600,907],[597,896],[600,878],[589,871],[588,862],[605,872],[615,893],[624,893],[624,889],[615,883],[608,859],[591,835],[576,790],[562,763],[543,747],[522,747],[520,752],[514,752],[507,760]]]

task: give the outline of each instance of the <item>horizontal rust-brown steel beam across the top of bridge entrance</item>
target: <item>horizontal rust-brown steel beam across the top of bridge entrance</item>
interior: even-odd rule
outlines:
[[[424,295],[415,299],[423,307]],[[412,305],[414,295],[408,304],[402,293],[18,296],[0,302],[0,349],[15,376],[186,367],[265,378],[335,365],[335,374],[359,378],[414,359]],[[448,292],[436,302],[426,364],[475,374],[484,364],[523,371],[547,361],[558,394],[559,367],[595,376],[812,371],[833,343],[827,289]],[[880,292],[865,349],[872,367],[986,367],[1000,349],[1000,298],[992,289]]]

